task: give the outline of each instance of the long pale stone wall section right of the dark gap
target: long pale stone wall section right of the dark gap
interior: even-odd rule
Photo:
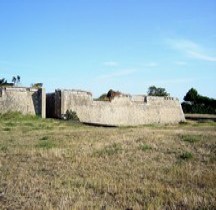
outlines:
[[[72,110],[85,123],[118,126],[185,121],[181,104],[176,98],[119,96],[110,102],[94,101],[92,95],[84,91],[58,90],[57,95],[60,95],[55,102],[58,104],[57,117]]]

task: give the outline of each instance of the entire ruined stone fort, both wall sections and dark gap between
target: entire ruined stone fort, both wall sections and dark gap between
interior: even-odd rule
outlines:
[[[76,112],[80,121],[108,126],[173,124],[185,121],[177,98],[119,94],[112,100],[96,101],[80,90],[0,87],[0,113],[19,111],[43,118],[64,118],[67,110]]]

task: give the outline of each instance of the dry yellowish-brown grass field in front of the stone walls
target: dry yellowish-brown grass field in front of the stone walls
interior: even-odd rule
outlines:
[[[104,128],[0,115],[0,209],[216,209],[216,123]]]

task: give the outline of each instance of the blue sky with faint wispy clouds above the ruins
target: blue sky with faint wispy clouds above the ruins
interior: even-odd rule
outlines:
[[[216,98],[215,0],[0,0],[0,78]]]

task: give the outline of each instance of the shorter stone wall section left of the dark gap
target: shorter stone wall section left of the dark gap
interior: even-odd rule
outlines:
[[[23,87],[0,87],[0,113],[9,111],[40,115],[45,118],[45,90]]]

